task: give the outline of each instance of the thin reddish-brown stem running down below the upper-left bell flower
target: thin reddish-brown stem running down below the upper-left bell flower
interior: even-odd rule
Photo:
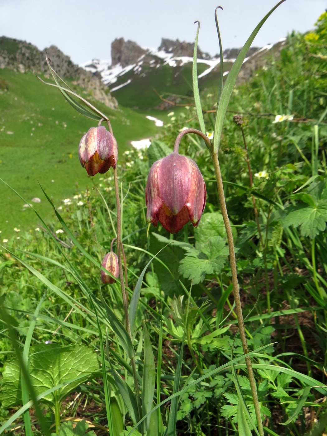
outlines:
[[[124,284],[124,273],[123,273],[123,263],[122,263],[123,242],[122,242],[122,233],[121,233],[121,215],[120,215],[120,200],[119,200],[119,186],[118,186],[117,168],[115,168],[113,170],[113,178],[115,181],[115,194],[116,194],[117,258],[118,258],[118,266],[119,266],[119,279],[120,279],[120,286],[121,286],[122,296],[123,296],[123,306],[124,306],[124,313],[125,313],[125,326],[126,326],[127,333],[129,334],[129,337],[133,341],[131,330],[130,330],[130,325],[129,325],[129,316],[128,316],[128,293],[127,293],[127,290],[126,290],[125,284]],[[125,262],[125,265],[126,265],[126,262]],[[135,388],[137,408],[139,410],[139,415],[142,416],[139,382],[137,380],[136,364],[135,364],[135,359],[133,357],[131,357],[131,366],[132,366],[132,370],[133,370],[133,380],[134,380],[134,388]]]

